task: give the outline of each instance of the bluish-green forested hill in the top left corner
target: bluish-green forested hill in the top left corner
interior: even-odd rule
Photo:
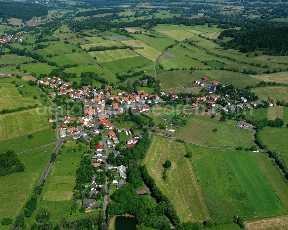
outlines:
[[[33,17],[40,17],[48,14],[48,8],[40,4],[0,2],[0,18],[20,18],[22,22]]]

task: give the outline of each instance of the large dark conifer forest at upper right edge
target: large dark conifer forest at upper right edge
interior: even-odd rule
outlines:
[[[226,30],[218,38],[232,37],[228,42],[222,43],[229,49],[239,49],[240,52],[253,52],[263,50],[268,55],[286,55],[288,52],[288,27],[263,28],[252,31]]]

